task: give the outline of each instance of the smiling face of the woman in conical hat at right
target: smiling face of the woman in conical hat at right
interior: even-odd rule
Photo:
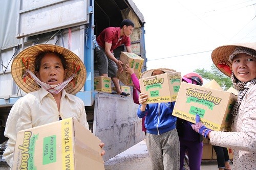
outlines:
[[[256,58],[241,53],[234,57],[232,62],[234,76],[241,82],[248,82],[256,78]]]

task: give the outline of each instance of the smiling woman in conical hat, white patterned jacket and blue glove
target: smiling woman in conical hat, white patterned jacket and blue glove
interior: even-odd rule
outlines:
[[[207,129],[200,123],[199,115],[192,126],[209,138],[212,145],[233,149],[233,170],[256,169],[256,43],[220,46],[211,53],[211,58],[239,90],[231,111],[231,132]]]

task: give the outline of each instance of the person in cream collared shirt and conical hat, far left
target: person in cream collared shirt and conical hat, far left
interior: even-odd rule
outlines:
[[[14,58],[11,74],[28,93],[13,105],[6,123],[5,136],[9,140],[4,158],[11,167],[20,130],[70,117],[89,129],[83,101],[73,95],[86,81],[86,68],[76,54],[58,45],[33,45]],[[99,145],[104,147],[104,143]]]

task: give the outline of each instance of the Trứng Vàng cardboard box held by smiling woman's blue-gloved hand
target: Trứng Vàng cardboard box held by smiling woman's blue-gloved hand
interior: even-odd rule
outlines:
[[[236,100],[233,93],[182,82],[173,115],[196,123],[199,114],[207,128],[230,131],[230,111]]]

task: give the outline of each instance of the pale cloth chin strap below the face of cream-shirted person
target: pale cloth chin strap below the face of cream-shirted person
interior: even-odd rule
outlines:
[[[70,78],[67,80],[63,81],[60,84],[57,85],[50,85],[44,82],[41,82],[30,70],[27,70],[28,73],[33,77],[34,81],[41,86],[42,88],[46,89],[49,91],[51,94],[58,94],[60,91],[62,91],[63,88],[67,86],[67,84],[75,77],[75,74],[73,74]]]

